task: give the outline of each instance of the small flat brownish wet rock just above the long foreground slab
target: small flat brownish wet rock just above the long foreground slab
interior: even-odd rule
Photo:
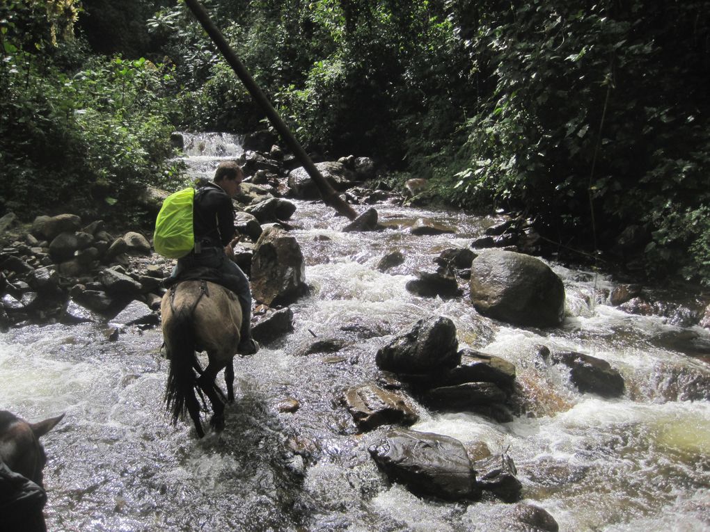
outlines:
[[[375,384],[350,388],[345,392],[344,401],[361,431],[395,423],[411,425],[419,419],[404,396],[387,392]]]

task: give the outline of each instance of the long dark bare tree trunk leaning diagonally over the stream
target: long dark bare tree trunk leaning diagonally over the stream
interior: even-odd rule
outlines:
[[[200,24],[202,24],[202,28],[204,28],[204,31],[207,32],[209,38],[211,38],[214,44],[217,45],[219,51],[222,52],[222,55],[224,55],[224,59],[226,59],[226,61],[232,67],[236,75],[239,76],[241,82],[244,83],[244,86],[249,91],[249,94],[251,94],[253,99],[256,100],[256,103],[261,106],[263,111],[266,112],[266,116],[268,116],[268,119],[269,121],[271,121],[273,127],[281,135],[283,141],[286,143],[286,145],[288,145],[288,148],[290,148],[290,150],[293,152],[293,155],[295,155],[295,157],[299,160],[301,165],[305,168],[306,172],[308,172],[308,175],[315,183],[318,192],[320,192],[320,196],[322,197],[325,204],[332,206],[332,208],[335,209],[338,214],[342,214],[342,216],[347,216],[347,218],[349,218],[350,220],[354,220],[355,218],[357,218],[358,215],[356,211],[345,201],[343,201],[343,199],[338,195],[337,192],[335,192],[333,187],[330,186],[329,182],[327,182],[327,180],[315,167],[311,158],[308,156],[308,154],[302,148],[298,140],[296,140],[293,133],[291,133],[291,130],[288,128],[288,126],[286,126],[284,121],[279,116],[278,111],[273,108],[273,106],[271,105],[271,101],[268,101],[266,94],[264,94],[261,88],[256,84],[256,82],[254,82],[254,79],[253,77],[251,77],[251,74],[249,74],[249,71],[246,70],[246,67],[244,67],[244,64],[241,62],[241,60],[239,60],[239,57],[236,56],[234,50],[231,49],[229,43],[226,42],[226,39],[224,38],[224,35],[222,35],[222,32],[219,31],[219,28],[217,28],[217,26],[215,26],[212,22],[212,19],[209,18],[209,14],[204,9],[202,4],[200,4],[200,2],[197,0],[185,0],[185,4],[187,4],[187,7],[190,8],[192,14],[195,15],[195,18],[200,21]]]

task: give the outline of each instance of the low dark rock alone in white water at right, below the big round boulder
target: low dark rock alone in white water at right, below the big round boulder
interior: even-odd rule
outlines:
[[[573,352],[550,355],[553,364],[564,364],[570,369],[570,379],[580,392],[591,392],[602,397],[619,397],[624,392],[621,374],[606,360]]]

